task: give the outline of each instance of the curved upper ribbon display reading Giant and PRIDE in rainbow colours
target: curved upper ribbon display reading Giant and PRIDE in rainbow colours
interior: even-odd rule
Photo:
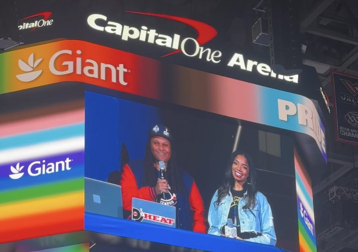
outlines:
[[[58,82],[88,83],[300,132],[314,139],[327,162],[324,126],[314,103],[301,95],[80,40],[2,53],[0,65],[0,94]]]

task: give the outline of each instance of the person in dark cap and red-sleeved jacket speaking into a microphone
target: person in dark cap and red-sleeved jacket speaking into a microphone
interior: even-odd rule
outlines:
[[[159,161],[165,163],[160,179]],[[193,178],[176,164],[173,138],[168,127],[151,127],[144,160],[130,161],[123,167],[123,208],[132,210],[132,198],[176,207],[176,227],[205,233],[203,200]]]

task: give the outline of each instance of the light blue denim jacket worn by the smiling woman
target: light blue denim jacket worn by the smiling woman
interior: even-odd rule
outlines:
[[[238,203],[238,215],[240,219],[241,232],[259,233],[260,236],[246,239],[245,241],[269,244],[275,246],[276,234],[274,228],[274,218],[272,217],[270,204],[267,202],[265,195],[260,192],[256,193],[256,205],[253,209],[244,210],[243,206],[246,204],[247,192]],[[222,227],[227,223],[227,217],[230,211],[230,206],[233,201],[231,192],[226,195],[221,204],[218,206],[214,202],[218,199],[218,191],[216,190],[209,208],[209,230],[208,234],[217,236],[222,235]]]

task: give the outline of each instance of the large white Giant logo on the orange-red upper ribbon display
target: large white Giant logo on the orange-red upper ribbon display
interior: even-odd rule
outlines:
[[[61,60],[64,55],[73,55],[77,54],[76,59],[74,60]],[[96,79],[102,79],[104,81],[107,80],[107,77],[109,76],[109,79],[113,83],[120,83],[123,86],[126,86],[128,82],[125,81],[126,75],[130,73],[131,71],[129,69],[126,69],[124,67],[124,64],[118,64],[118,66],[113,66],[112,64],[107,63],[98,63],[96,60],[93,59],[82,59],[81,58],[82,51],[76,50],[73,52],[72,50],[59,50],[58,52],[55,52],[48,63],[49,71],[54,75],[67,75],[67,74],[79,74],[79,75],[85,75],[90,78],[96,78]],[[22,74],[16,75],[16,78],[19,81],[22,82],[30,82],[37,79],[40,74],[42,73],[42,70],[34,71],[35,68],[39,65],[39,63],[42,61],[42,58],[37,59],[34,61],[34,53],[30,54],[28,58],[28,63],[25,63],[22,59],[19,59],[19,68],[26,72]],[[61,66],[64,66],[65,69],[57,69],[55,67],[55,61],[60,62]],[[86,66],[83,66],[84,63],[87,63]]]

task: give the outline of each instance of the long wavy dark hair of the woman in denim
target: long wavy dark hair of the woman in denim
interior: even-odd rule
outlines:
[[[221,204],[221,200],[229,194],[231,188],[233,188],[235,184],[235,179],[232,175],[232,164],[234,159],[237,155],[242,155],[247,159],[248,167],[249,167],[249,175],[247,177],[246,183],[244,184],[244,190],[247,189],[247,202],[243,206],[243,209],[251,210],[256,205],[256,168],[255,164],[253,163],[251,156],[247,152],[243,152],[240,150],[234,151],[227,163],[226,172],[224,176],[224,184],[219,187],[218,189],[218,199],[214,203],[216,206]],[[249,184],[250,183],[250,184]]]

